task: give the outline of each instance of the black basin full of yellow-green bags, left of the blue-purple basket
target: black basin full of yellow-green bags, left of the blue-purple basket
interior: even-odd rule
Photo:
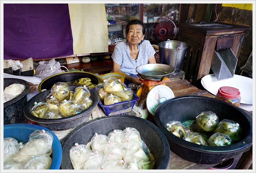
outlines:
[[[77,85],[69,85],[70,91],[74,91],[75,88],[78,87]],[[27,119],[37,122],[39,125],[44,126],[50,130],[56,131],[56,130],[67,130],[67,129],[71,129],[74,127],[77,127],[81,124],[83,124],[84,122],[86,122],[92,113],[92,110],[94,109],[94,107],[99,103],[99,96],[96,93],[95,90],[91,90],[90,89],[90,94],[91,94],[91,98],[93,99],[93,104],[86,110],[72,115],[70,117],[65,117],[65,118],[58,118],[58,119],[43,119],[43,118],[38,118],[33,116],[30,111],[32,109],[32,107],[34,106],[34,102],[41,102],[44,101],[46,97],[49,95],[49,93],[51,92],[51,89],[48,89],[46,91],[43,91],[37,95],[35,95],[34,97],[32,97],[26,104],[25,108],[24,108],[24,114],[26,116]]]

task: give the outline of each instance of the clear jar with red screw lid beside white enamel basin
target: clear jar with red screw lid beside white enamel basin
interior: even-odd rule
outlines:
[[[241,101],[240,91],[237,88],[229,86],[220,87],[215,98],[228,102],[237,107],[239,107]]]

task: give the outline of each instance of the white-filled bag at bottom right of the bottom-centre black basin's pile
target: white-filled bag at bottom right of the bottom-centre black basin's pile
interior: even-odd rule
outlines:
[[[127,155],[124,158],[123,169],[153,169],[153,167],[154,162],[134,155]]]

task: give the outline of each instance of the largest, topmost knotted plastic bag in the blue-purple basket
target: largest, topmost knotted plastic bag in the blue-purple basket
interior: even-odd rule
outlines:
[[[125,94],[124,86],[117,78],[110,77],[109,79],[104,80],[104,82],[105,92],[116,95],[118,97],[123,97],[125,99],[128,98],[127,94]]]

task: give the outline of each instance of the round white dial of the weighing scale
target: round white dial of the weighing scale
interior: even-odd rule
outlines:
[[[174,98],[172,90],[166,85],[157,85],[147,94],[146,104],[149,113],[154,115],[156,108],[166,100]]]

